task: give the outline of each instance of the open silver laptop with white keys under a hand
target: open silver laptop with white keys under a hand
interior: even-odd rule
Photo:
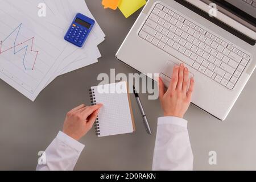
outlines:
[[[149,0],[115,56],[138,72],[167,78],[184,63],[196,80],[192,104],[223,121],[256,67],[253,14],[230,12],[254,1],[208,1],[225,11],[216,17],[205,1]]]

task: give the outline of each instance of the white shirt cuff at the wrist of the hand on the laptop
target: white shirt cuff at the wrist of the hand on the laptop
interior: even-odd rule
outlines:
[[[188,121],[183,118],[177,118],[177,117],[160,117],[158,118],[158,125],[177,125],[181,127],[185,127],[187,129]]]

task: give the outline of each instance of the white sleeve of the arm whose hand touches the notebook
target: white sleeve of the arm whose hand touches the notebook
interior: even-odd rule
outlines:
[[[36,170],[71,171],[83,149],[83,144],[60,131],[45,151],[46,164],[38,164]]]

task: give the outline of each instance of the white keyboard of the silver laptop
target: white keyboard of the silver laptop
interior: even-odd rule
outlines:
[[[160,3],[139,36],[228,89],[234,88],[250,61],[240,48]]]

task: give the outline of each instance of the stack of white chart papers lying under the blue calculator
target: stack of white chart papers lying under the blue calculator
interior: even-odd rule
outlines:
[[[97,46],[105,34],[97,21],[82,48],[64,40],[77,13],[94,19],[84,0],[0,0],[0,4],[0,78],[30,100],[57,76],[101,57]],[[41,16],[44,6],[46,16]]]

